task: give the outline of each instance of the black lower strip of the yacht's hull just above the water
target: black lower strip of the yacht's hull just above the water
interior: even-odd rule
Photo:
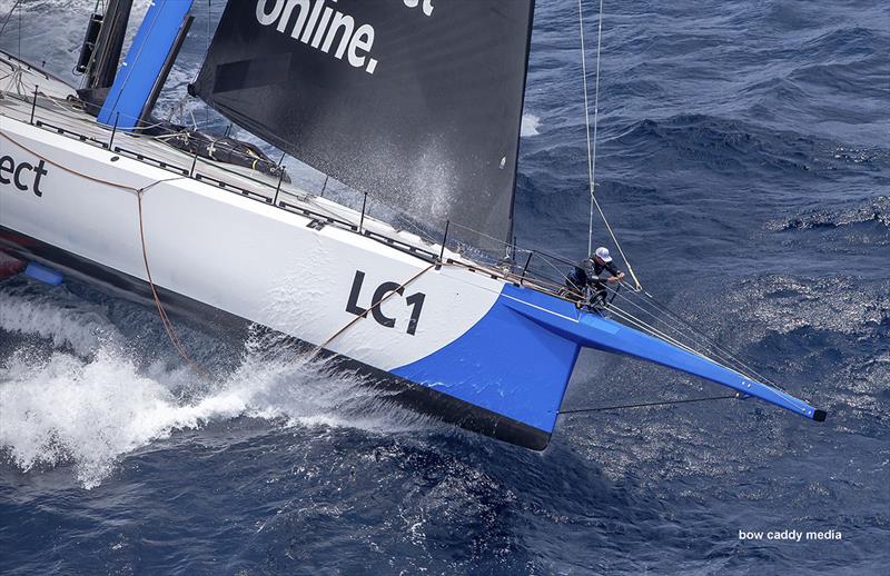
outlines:
[[[6,227],[0,227],[0,250],[22,260],[52,267],[66,276],[90,284],[116,297],[155,307],[150,286],[145,280]],[[157,287],[157,289],[164,308],[170,317],[198,324],[211,332],[224,334],[229,338],[246,338],[248,327],[254,324],[178,292],[161,287]],[[314,346],[307,342],[297,340],[296,345],[307,350],[314,349]],[[533,450],[543,450],[550,441],[550,434],[544,430],[406,380],[347,356],[322,350],[319,357],[329,359],[330,364],[337,368],[359,374],[363,383],[385,391],[386,399],[399,406]]]

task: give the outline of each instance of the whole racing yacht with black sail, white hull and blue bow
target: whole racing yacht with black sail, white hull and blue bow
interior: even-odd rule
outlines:
[[[582,348],[824,420],[762,378],[578,307],[530,266],[546,255],[513,246],[533,0],[229,2],[189,86],[365,200],[447,221],[435,240],[419,216],[408,231],[299,189],[250,145],[157,122],[191,1],[155,0],[121,63],[130,8],[111,0],[90,19],[79,89],[0,53],[7,276],[73,277],[155,306],[186,359],[172,319],[259,325],[389,398],[535,450]],[[492,239],[508,258],[467,248]]]

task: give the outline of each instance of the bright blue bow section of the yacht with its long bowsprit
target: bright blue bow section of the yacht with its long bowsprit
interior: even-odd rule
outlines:
[[[553,433],[582,347],[642,358],[726,386],[742,397],[825,419],[824,411],[805,401],[704,356],[513,285],[504,287],[488,314],[461,338],[393,374],[531,427],[535,438],[517,444],[541,449]],[[492,435],[498,436],[496,430]]]

